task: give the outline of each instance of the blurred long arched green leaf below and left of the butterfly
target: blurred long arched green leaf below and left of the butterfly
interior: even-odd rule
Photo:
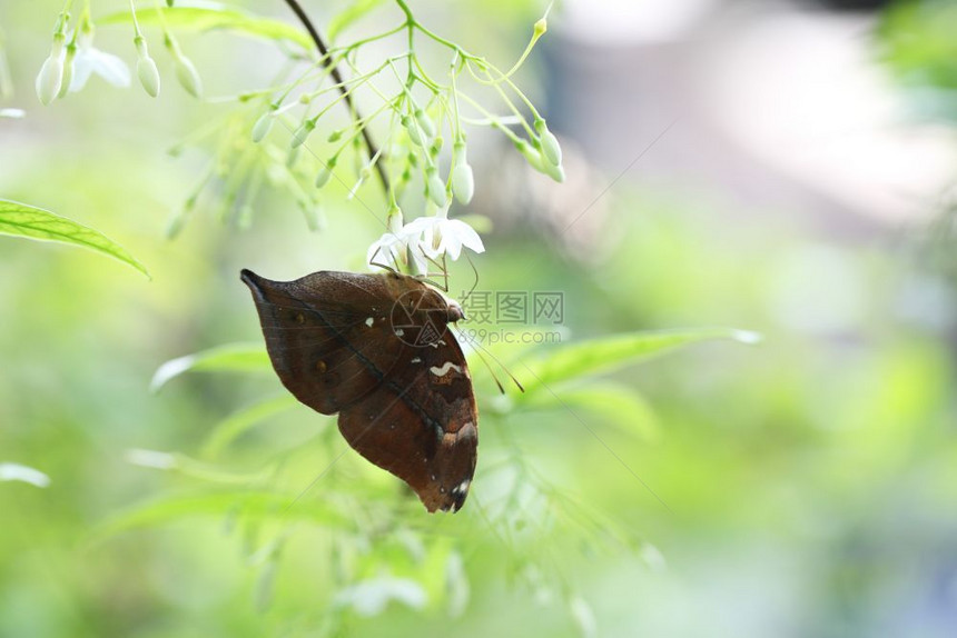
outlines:
[[[300,500],[295,495],[256,490],[224,490],[197,495],[164,497],[106,520],[93,529],[87,541],[91,545],[111,536],[142,527],[174,522],[190,517],[235,516],[240,509],[250,519],[308,521],[345,526],[348,520],[323,500]]]

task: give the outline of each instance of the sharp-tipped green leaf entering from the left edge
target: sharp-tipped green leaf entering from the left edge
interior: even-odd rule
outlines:
[[[82,246],[119,259],[149,277],[144,265],[110,238],[34,206],[0,199],[0,235]]]

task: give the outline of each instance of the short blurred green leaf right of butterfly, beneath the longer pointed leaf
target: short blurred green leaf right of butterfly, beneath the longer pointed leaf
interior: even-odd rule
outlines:
[[[558,396],[551,392],[530,392],[515,397],[515,406],[532,410],[582,408],[602,422],[615,425],[644,440],[654,440],[659,433],[654,410],[644,397],[619,383],[602,382],[562,389]]]

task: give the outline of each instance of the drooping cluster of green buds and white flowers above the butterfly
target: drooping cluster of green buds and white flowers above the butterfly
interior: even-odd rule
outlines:
[[[564,169],[558,139],[511,78],[546,31],[544,18],[535,23],[525,52],[505,72],[485,58],[470,53],[424,27],[404,1],[397,0],[396,4],[405,13],[405,21],[398,27],[345,48],[330,48],[299,79],[275,92],[262,93],[265,108],[256,113],[255,123],[250,119],[250,138],[256,143],[265,142],[274,121],[283,121],[292,131],[292,163],[298,149],[322,133],[324,139],[317,141],[316,148],[309,149],[309,154],[319,160],[317,172],[312,173],[315,175],[315,188],[325,188],[333,177],[342,183],[345,183],[344,178],[351,179],[348,198],[355,197],[377,171],[393,209],[388,213],[389,230],[369,248],[368,260],[422,273],[428,261],[445,256],[457,259],[463,247],[476,252],[484,250],[474,229],[461,220],[447,219],[453,200],[468,205],[475,192],[475,177],[466,152],[466,126],[500,131],[534,169],[556,181],[564,180]],[[372,69],[357,66],[357,47],[399,36],[402,46],[406,47],[404,52]],[[452,59],[444,77],[432,74],[418,59],[414,47],[416,38],[425,38],[450,50]],[[342,78],[338,66],[347,69],[348,79]],[[334,82],[326,86],[329,79]],[[466,79],[491,87],[510,112],[495,114],[487,110],[460,87]],[[392,89],[386,89],[386,86]],[[353,101],[361,90],[374,92],[381,102],[377,110],[364,117],[356,112]],[[338,96],[328,99],[330,91]],[[338,102],[345,102],[352,120],[343,128],[323,131],[324,116]],[[302,114],[295,117],[295,111]],[[369,131],[377,118],[386,117],[389,121],[384,129],[385,141],[376,149]],[[452,143],[447,143],[448,140]],[[319,146],[327,148],[319,150]],[[355,160],[349,162],[355,166],[352,171],[341,175],[336,167],[343,165],[339,160],[344,152]],[[345,177],[349,172],[352,175]],[[411,185],[420,188],[423,196],[421,200],[413,201],[424,201],[425,207],[437,212],[403,225],[394,202],[403,198]]]

